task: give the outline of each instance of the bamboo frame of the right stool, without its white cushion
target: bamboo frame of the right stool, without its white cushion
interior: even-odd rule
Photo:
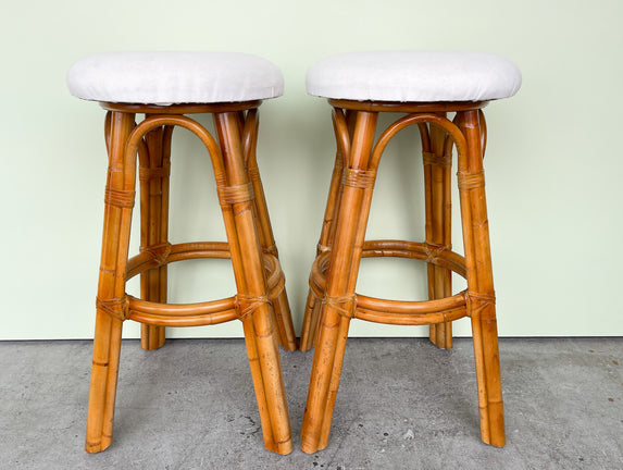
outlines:
[[[504,445],[497,321],[483,158],[487,102],[377,102],[329,99],[337,140],[317,257],[300,338],[303,350],[315,346],[303,423],[302,449],[327,446],[339,385],[348,327],[353,318],[401,324],[431,324],[431,341],[451,348],[451,321],[470,317],[477,379],[481,436]],[[407,113],[374,143],[381,112]],[[453,121],[447,112],[456,112]],[[426,240],[365,240],[376,171],[389,140],[418,125],[422,139]],[[464,256],[451,249],[450,176],[452,148],[458,181]],[[427,262],[426,301],[384,300],[356,294],[361,258],[402,257]],[[451,293],[451,273],[468,288]]]

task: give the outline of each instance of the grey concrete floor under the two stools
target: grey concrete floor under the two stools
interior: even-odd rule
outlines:
[[[623,338],[501,339],[508,444],[478,435],[472,343],[348,342],[332,437],[303,454],[312,352],[282,352],[295,450],[262,446],[242,341],[123,345],[112,446],[83,450],[90,342],[0,343],[2,469],[623,469]]]

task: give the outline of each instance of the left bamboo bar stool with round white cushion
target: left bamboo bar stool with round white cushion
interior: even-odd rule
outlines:
[[[296,349],[284,274],[256,160],[258,107],[283,94],[271,62],[220,52],[99,53],[76,62],[67,75],[72,95],[108,110],[109,170],[86,450],[110,446],[122,324],[141,323],[141,345],[164,343],[165,326],[240,320],[258,399],[264,444],[288,454],[292,445],[277,342]],[[196,120],[211,113],[215,139]],[[139,124],[137,114],[145,114]],[[216,180],[227,243],[167,240],[171,141],[175,126],[205,146]],[[128,259],[136,160],[140,181],[140,252]],[[230,259],[237,294],[220,300],[166,302],[166,264],[197,258]],[[126,282],[140,274],[140,297]]]

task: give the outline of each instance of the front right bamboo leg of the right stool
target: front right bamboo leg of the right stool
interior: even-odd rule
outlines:
[[[459,191],[468,268],[468,313],[472,319],[483,442],[504,445],[504,424],[489,228],[485,201],[478,111],[459,120],[468,153],[459,160]]]

